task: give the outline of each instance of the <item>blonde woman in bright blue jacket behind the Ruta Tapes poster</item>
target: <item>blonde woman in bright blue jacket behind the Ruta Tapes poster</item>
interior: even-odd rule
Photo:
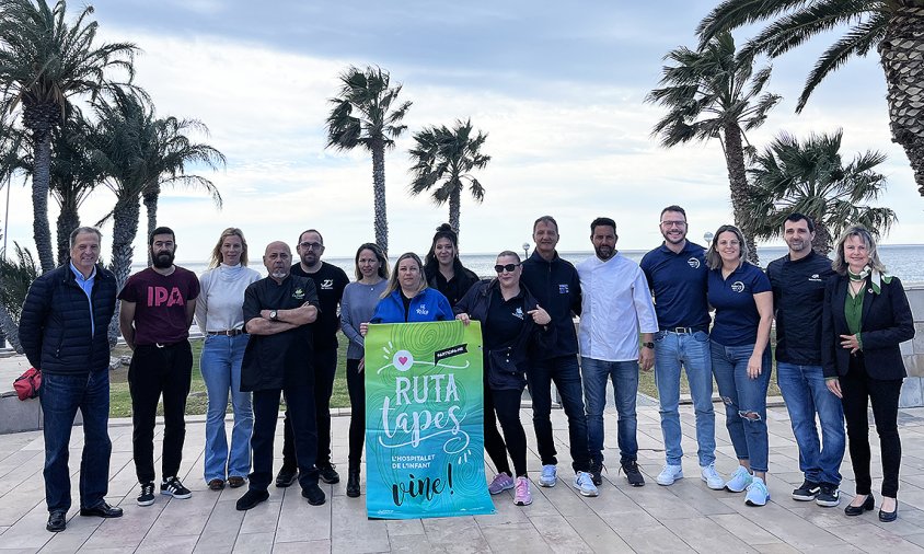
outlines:
[[[407,252],[397,258],[389,286],[369,323],[416,323],[452,319],[449,300],[440,291],[427,287],[420,257]],[[360,325],[360,332],[366,335],[365,325]]]

